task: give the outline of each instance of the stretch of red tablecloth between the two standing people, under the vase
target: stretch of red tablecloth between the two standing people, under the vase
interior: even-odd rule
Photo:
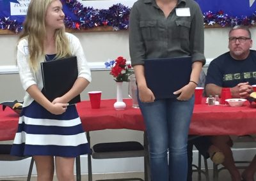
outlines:
[[[90,101],[77,104],[77,111],[85,131],[101,129],[145,129],[140,109],[132,108],[131,99],[124,99],[125,110],[116,111],[115,99],[102,100],[100,109],[92,109]]]

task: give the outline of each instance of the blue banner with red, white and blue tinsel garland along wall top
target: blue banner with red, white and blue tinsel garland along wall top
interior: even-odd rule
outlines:
[[[84,5],[86,1],[81,0],[61,1],[63,1],[65,25],[70,29],[89,29],[108,25],[114,30],[119,30],[127,29],[129,26],[131,6],[125,6],[122,2],[131,0],[110,1],[115,4],[111,4],[108,9],[86,6]],[[225,27],[255,24],[256,0],[195,1],[202,9],[205,25],[218,24]],[[22,22],[26,17],[29,2],[30,0],[0,0],[0,29],[9,29],[19,33],[22,30]],[[95,3],[95,1],[90,2]]]

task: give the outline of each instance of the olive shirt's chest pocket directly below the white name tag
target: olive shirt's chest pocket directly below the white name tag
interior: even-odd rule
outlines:
[[[187,20],[175,20],[175,24],[175,31],[172,31],[173,37],[188,39],[191,22]]]

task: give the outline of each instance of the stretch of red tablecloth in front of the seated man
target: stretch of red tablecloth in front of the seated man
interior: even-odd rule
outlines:
[[[244,135],[256,133],[256,105],[244,106],[195,105],[190,124],[191,134]]]

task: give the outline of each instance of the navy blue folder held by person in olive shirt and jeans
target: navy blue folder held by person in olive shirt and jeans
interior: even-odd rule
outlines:
[[[192,71],[191,57],[146,59],[145,78],[156,99],[177,98],[173,94],[187,85]]]

